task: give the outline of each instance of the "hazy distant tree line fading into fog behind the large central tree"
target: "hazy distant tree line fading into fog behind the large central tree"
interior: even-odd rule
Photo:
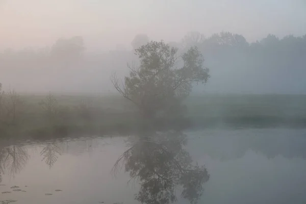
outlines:
[[[109,75],[114,70],[122,76],[128,74],[126,62],[138,60],[134,50],[149,41],[147,35],[139,34],[131,42],[133,48],[117,48],[107,53],[87,52],[80,36],[61,38],[50,47],[36,50],[7,49],[0,52],[0,81],[4,88],[10,84],[18,90],[45,87],[44,91],[56,91],[65,87],[108,91],[105,87],[110,86]],[[303,79],[306,35],[278,38],[270,34],[250,43],[242,35],[230,32],[210,37],[190,32],[179,42],[166,43],[177,47],[178,54],[191,46],[198,47],[213,77],[206,88],[196,88],[197,92],[306,93]],[[49,78],[57,83],[46,80]],[[80,80],[75,82],[73,78]]]

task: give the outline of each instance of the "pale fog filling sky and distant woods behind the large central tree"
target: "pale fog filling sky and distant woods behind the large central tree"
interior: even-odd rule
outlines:
[[[199,47],[211,79],[197,94],[305,94],[305,9],[302,0],[0,0],[0,82],[19,93],[114,92],[110,75],[137,63],[133,49],[164,40],[180,53]]]

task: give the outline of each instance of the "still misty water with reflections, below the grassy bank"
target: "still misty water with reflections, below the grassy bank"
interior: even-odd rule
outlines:
[[[0,151],[1,204],[306,203],[305,129],[0,141]]]

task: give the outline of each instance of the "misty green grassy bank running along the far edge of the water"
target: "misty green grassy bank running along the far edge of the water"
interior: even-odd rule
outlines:
[[[137,110],[117,95],[6,95],[1,136],[50,137],[69,134],[129,134],[148,124]],[[52,104],[52,101],[55,101]],[[154,126],[306,126],[305,95],[213,95],[190,96],[185,101],[188,120],[156,121]],[[12,115],[11,106],[15,106]],[[7,111],[8,112],[8,111]],[[150,124],[151,125],[151,124]]]

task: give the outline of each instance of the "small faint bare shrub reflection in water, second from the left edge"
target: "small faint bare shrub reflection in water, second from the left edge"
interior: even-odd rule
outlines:
[[[51,169],[58,160],[57,155],[61,155],[60,147],[57,143],[49,143],[41,150],[40,155],[43,156],[42,161],[45,161]]]

